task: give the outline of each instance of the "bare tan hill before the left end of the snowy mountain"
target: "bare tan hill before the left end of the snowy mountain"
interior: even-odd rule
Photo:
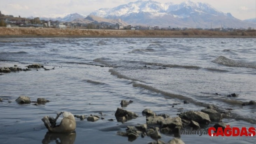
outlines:
[[[78,18],[72,22],[79,22],[79,23],[105,23],[105,24],[116,24],[127,26],[128,23],[122,21],[121,19],[106,19],[98,16],[89,15],[84,19]]]

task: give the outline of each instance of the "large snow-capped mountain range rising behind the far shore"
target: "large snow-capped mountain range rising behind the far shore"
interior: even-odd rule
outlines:
[[[223,13],[207,3],[185,1],[183,3],[165,3],[157,1],[136,1],[115,8],[102,8],[90,15],[108,19],[122,19],[131,25],[189,28],[240,28],[256,27],[255,24],[241,21]]]

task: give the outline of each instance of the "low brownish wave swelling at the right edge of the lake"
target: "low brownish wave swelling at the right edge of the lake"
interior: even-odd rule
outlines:
[[[253,68],[256,69],[255,64],[250,64],[248,62],[242,62],[242,61],[237,61],[237,60],[231,60],[227,57],[224,56],[219,56],[212,62],[217,63],[217,64],[222,64],[226,66],[233,66],[233,67],[247,67],[247,68]]]

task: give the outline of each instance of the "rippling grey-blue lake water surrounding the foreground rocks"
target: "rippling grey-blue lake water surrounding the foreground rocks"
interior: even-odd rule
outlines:
[[[256,127],[256,106],[242,106],[243,102],[256,100],[256,39],[0,39],[0,67],[24,68],[34,63],[55,69],[0,75],[0,98],[4,98],[0,102],[0,143],[47,143],[49,136],[45,138],[47,129],[41,119],[46,115],[55,117],[63,111],[77,115],[103,113],[105,119],[97,122],[76,119],[76,134],[72,136],[54,135],[77,144],[154,141],[139,137],[131,142],[116,135],[117,131],[125,131],[126,125],[146,123],[141,113],[144,109],[177,117],[180,112],[200,111],[205,105],[213,104],[221,109],[233,109],[230,118],[223,119],[231,127]],[[231,93],[239,96],[227,97]],[[43,97],[50,102],[19,105],[15,100],[22,95],[32,101]],[[121,100],[132,100],[125,109],[139,115],[123,125],[114,115],[121,107]],[[183,104],[184,100],[190,103]],[[111,118],[114,121],[107,121]],[[160,140],[167,142],[172,138],[173,135],[162,134]],[[181,136],[186,144],[254,144],[256,138],[253,138]]]

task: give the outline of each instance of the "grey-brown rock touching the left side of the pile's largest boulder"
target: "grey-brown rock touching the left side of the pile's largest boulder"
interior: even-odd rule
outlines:
[[[182,119],[180,117],[165,118],[160,123],[162,128],[168,127],[172,129],[176,126],[182,127]]]

